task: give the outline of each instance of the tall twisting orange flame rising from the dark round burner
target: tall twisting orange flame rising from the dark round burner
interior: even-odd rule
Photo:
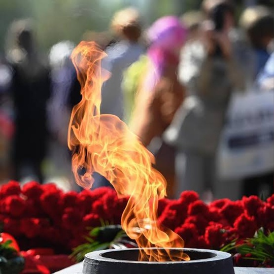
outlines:
[[[84,41],[72,53],[82,94],[68,132],[76,181],[90,188],[92,173],[97,172],[111,182],[118,197],[130,196],[121,219],[123,229],[140,248],[156,247],[141,250],[140,260],[189,260],[183,249],[170,254],[168,248],[183,248],[184,241],[157,224],[158,199],[166,194],[166,182],[152,167],[153,156],[118,117],[100,115],[101,85],[107,79],[100,62],[105,56],[94,42]]]

